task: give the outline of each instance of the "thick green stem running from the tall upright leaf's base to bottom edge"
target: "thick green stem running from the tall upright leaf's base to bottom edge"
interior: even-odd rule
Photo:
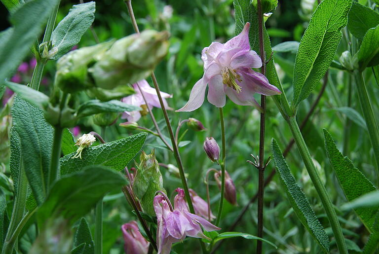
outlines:
[[[336,238],[337,247],[340,253],[345,254],[347,253],[347,248],[345,244],[345,239],[343,238],[340,222],[338,221],[337,214],[334,210],[329,194],[326,191],[326,188],[323,182],[321,181],[320,175],[318,174],[318,171],[313,164],[312,157],[310,156],[308,148],[305,145],[302,133],[300,132],[298,123],[296,122],[296,118],[294,116],[291,116],[289,117],[287,122],[290,126],[296,145],[298,146],[300,155],[303,158],[305,168],[308,171],[309,177],[324,206],[325,212],[328,216],[330,225],[334,233],[334,237]]]

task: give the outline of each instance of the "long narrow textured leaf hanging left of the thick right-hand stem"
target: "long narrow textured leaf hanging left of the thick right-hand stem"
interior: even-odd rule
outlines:
[[[321,249],[329,252],[329,239],[320,221],[317,219],[316,214],[310,207],[304,192],[297,184],[294,176],[291,174],[290,169],[283,157],[283,153],[279,148],[277,142],[272,139],[271,149],[275,161],[275,167],[280,175],[280,180],[287,192],[288,199],[294,208],[294,212],[303,223],[305,228],[313,236],[316,242],[320,245]]]

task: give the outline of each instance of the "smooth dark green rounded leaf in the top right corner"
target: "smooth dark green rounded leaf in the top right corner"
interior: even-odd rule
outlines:
[[[347,21],[347,29],[353,36],[358,39],[363,39],[363,36],[365,36],[367,30],[378,26],[378,24],[378,12],[367,6],[359,4],[356,1],[353,1]]]

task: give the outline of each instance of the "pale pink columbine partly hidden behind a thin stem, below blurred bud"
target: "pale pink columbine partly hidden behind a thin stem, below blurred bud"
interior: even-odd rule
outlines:
[[[135,94],[129,95],[127,97],[124,97],[121,99],[122,102],[141,107],[143,110],[141,111],[125,111],[122,114],[123,119],[127,118],[129,122],[137,122],[140,118],[141,115],[147,114],[147,107],[149,109],[152,109],[152,107],[160,108],[158,96],[156,95],[156,91],[154,88],[152,88],[148,81],[145,79],[138,81],[137,83],[133,84],[133,88],[136,91]],[[140,88],[142,92],[144,93],[144,96],[146,98],[146,101],[148,102],[148,105],[146,105],[144,98],[142,97]],[[172,95],[160,92],[160,95],[162,96],[163,99],[163,104],[166,109],[171,109],[168,107],[166,99],[165,98],[171,98]]]

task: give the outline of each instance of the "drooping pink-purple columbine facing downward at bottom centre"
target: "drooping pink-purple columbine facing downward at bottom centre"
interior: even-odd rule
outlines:
[[[154,197],[154,210],[157,217],[156,242],[158,254],[169,254],[173,243],[183,241],[186,236],[206,238],[200,225],[206,231],[220,230],[205,218],[189,213],[185,201],[184,190],[177,188],[175,196],[175,210],[169,200],[158,194]]]

